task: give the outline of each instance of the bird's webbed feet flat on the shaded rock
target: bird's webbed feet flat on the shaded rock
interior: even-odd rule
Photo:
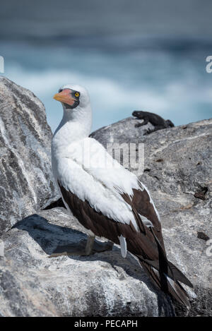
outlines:
[[[111,241],[101,242],[101,241],[93,241],[82,240],[79,243],[71,243],[64,246],[57,246],[54,252],[49,255],[49,258],[57,258],[61,255],[81,255],[88,256],[95,253],[101,253],[105,251],[112,251],[113,243]]]

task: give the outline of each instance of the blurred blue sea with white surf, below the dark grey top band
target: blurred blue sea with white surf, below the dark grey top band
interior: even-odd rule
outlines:
[[[2,40],[0,55],[3,75],[45,104],[52,131],[62,116],[54,93],[67,83],[84,85],[95,130],[134,110],[155,112],[175,125],[212,117],[212,73],[206,73],[211,46],[202,38],[60,37],[48,42]]]

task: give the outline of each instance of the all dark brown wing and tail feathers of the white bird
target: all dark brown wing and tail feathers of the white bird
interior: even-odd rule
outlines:
[[[59,183],[59,188],[64,202],[83,227],[93,231],[96,236],[103,236],[117,244],[119,244],[119,236],[124,236],[127,250],[139,258],[141,265],[155,285],[188,306],[188,301],[185,299],[186,292],[184,289],[180,291],[181,286],[177,280],[189,286],[192,284],[177,267],[171,265],[167,260],[160,222],[145,190],[134,190],[132,199],[129,199],[126,194],[122,195],[124,200],[131,204],[140,229],[140,231],[136,231],[131,221],[129,224],[116,222],[103,215],[102,212],[97,212],[88,201],[82,201],[75,194],[67,191],[61,183]],[[139,214],[148,218],[153,223],[153,227],[146,227]],[[174,285],[167,281],[167,276],[173,279]]]

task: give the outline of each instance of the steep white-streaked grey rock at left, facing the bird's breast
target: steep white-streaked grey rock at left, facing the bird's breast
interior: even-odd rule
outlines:
[[[0,76],[0,234],[58,197],[45,107]]]

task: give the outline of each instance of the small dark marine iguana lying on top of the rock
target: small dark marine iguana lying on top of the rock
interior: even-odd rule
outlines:
[[[139,128],[139,126],[144,126],[148,124],[148,122],[155,126],[153,130],[149,129],[146,133],[144,133],[144,135],[148,135],[149,133],[152,133],[154,131],[161,130],[162,128],[171,128],[172,126],[175,126],[169,119],[165,120],[157,114],[143,112],[142,110],[135,110],[132,115],[136,116],[138,119],[143,119],[142,123],[137,123],[135,125],[136,128]]]

